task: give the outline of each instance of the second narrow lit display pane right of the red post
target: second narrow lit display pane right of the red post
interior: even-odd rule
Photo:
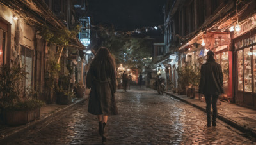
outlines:
[[[251,65],[252,53],[250,48],[244,48],[244,91],[252,92],[252,65]]]

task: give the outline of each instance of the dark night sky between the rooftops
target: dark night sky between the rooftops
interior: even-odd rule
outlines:
[[[88,0],[95,24],[113,24],[115,29],[140,29],[163,25],[166,0]]]

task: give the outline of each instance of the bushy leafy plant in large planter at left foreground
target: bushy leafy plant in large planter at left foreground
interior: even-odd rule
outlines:
[[[37,100],[35,91],[20,85],[26,79],[24,68],[0,66],[0,109],[4,123],[22,125],[40,116],[44,102]]]

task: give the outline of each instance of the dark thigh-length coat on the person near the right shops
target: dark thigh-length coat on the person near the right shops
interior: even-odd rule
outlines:
[[[223,73],[220,64],[215,60],[208,60],[201,66],[199,93],[206,95],[219,95],[223,90]]]

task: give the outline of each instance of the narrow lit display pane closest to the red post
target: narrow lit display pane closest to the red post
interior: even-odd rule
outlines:
[[[237,51],[238,90],[243,91],[243,50]]]

